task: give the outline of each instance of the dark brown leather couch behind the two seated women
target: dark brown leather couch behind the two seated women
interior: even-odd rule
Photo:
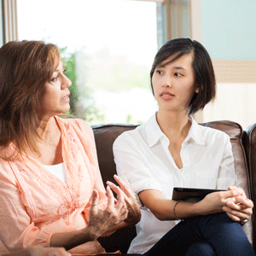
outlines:
[[[238,185],[245,190],[247,197],[255,203],[256,200],[256,124],[243,131],[241,125],[232,121],[214,121],[202,124],[214,129],[224,131],[230,136],[232,150],[235,160]],[[116,173],[113,161],[113,142],[124,131],[135,129],[137,125],[107,124],[93,125],[96,139],[96,149],[103,182],[112,181],[113,174]],[[256,252],[256,219],[255,212],[247,224],[243,225],[249,241]],[[136,236],[135,226],[116,231],[112,236],[100,238],[102,246],[107,252],[120,250],[127,253],[131,240]]]

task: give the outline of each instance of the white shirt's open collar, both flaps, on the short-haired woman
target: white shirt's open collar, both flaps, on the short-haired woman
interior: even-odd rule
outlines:
[[[190,127],[189,134],[183,143],[188,142],[189,139],[192,138],[195,143],[204,145],[205,142],[201,133],[201,125],[198,125],[192,116],[189,116],[189,119],[192,122],[192,125]],[[147,133],[148,146],[150,148],[153,147],[161,137],[166,137],[166,135],[160,130],[160,126],[157,123],[156,113],[154,113],[154,115],[152,115],[151,118],[145,123],[145,131]]]

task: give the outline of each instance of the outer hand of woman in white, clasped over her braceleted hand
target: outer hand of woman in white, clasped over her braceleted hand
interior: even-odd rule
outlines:
[[[236,186],[228,188],[229,190],[239,189]],[[247,199],[244,191],[241,190],[241,195],[236,196],[236,201],[228,201],[224,206],[224,212],[227,212],[229,217],[234,221],[245,222],[253,213],[253,201]]]

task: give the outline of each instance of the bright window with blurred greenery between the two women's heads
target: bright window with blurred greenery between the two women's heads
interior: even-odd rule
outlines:
[[[59,46],[77,117],[90,124],[140,123],[156,110],[149,72],[157,51],[157,4],[19,0],[19,40]]]

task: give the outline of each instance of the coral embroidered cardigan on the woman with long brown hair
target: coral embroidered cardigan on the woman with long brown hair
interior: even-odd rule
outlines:
[[[15,161],[0,159],[0,253],[6,252],[6,248],[49,247],[52,234],[86,227],[93,189],[99,193],[99,207],[106,207],[106,191],[90,125],[81,119],[55,120],[61,130],[66,183],[30,156]],[[13,144],[7,152],[11,150],[15,150]],[[102,247],[97,241],[72,250],[99,252]]]

